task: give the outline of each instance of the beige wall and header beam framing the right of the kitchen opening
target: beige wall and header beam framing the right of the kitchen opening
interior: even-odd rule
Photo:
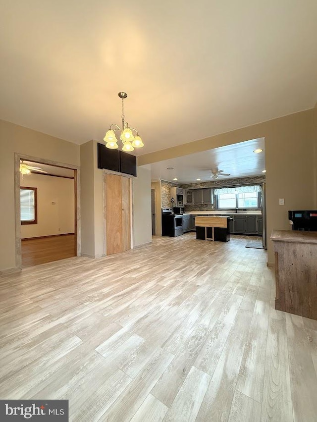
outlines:
[[[255,138],[265,138],[266,213],[268,263],[274,254],[269,236],[273,229],[289,230],[288,210],[313,209],[316,206],[316,135],[314,115],[307,110],[172,147],[138,158],[138,165],[206,151]],[[285,205],[278,205],[284,198]]]

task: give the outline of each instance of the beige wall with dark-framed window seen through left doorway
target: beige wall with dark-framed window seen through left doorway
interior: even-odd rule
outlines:
[[[23,224],[21,238],[74,233],[74,179],[27,174],[20,177],[21,186],[37,188],[38,223]],[[55,204],[52,204],[52,203]]]

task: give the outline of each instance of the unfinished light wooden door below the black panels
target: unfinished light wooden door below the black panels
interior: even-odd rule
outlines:
[[[130,179],[105,174],[106,255],[117,254],[131,247]]]

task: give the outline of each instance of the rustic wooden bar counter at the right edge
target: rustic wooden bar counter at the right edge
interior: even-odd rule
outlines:
[[[273,230],[275,309],[317,319],[317,232]]]

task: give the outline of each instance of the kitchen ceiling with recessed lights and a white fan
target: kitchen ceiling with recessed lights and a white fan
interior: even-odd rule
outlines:
[[[258,148],[263,152],[254,153],[253,151]],[[212,181],[211,170],[224,170],[224,173],[230,174],[230,176],[218,176],[218,180],[263,175],[262,170],[265,170],[264,138],[159,161],[149,166],[152,180],[173,181],[176,177],[176,183],[193,183],[197,178],[200,178],[202,182]]]

